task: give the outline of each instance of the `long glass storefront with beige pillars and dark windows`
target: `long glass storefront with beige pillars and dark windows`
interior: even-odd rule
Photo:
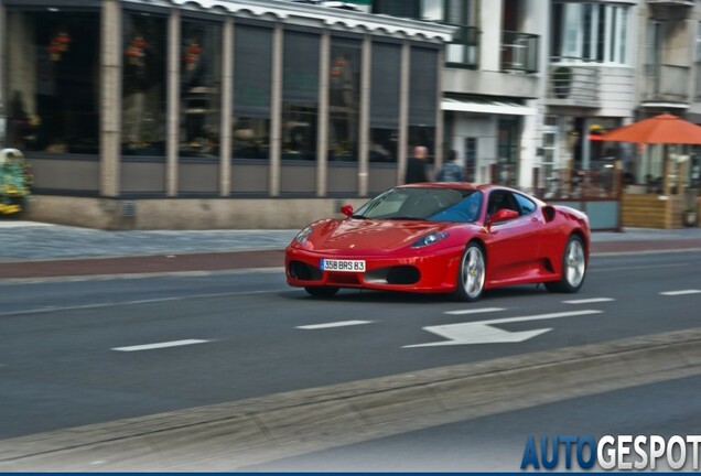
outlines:
[[[365,195],[397,184],[411,145],[435,153],[438,43],[66,3],[3,10],[3,145],[33,154],[40,194]]]

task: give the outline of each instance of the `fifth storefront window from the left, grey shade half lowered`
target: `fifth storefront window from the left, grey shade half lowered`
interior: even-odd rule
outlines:
[[[284,32],[282,159],[316,160],[319,52],[319,35]]]

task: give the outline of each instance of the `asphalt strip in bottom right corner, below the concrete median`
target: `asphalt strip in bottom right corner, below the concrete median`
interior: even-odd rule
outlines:
[[[271,473],[515,473],[521,470],[530,436],[539,445],[541,436],[547,436],[552,444],[558,435],[591,435],[598,441],[603,435],[660,435],[669,440],[672,435],[698,434],[701,428],[700,388],[701,377],[689,377],[464,420],[238,469]],[[560,448],[557,468],[565,470],[563,446]],[[548,455],[552,457],[552,446]],[[571,457],[573,470],[581,470],[575,454]],[[641,458],[632,453],[623,461],[634,463]],[[666,456],[656,461],[656,468],[670,470]],[[532,465],[528,469],[532,470]],[[693,469],[691,453],[683,469]],[[593,470],[601,472],[602,468],[595,465]]]

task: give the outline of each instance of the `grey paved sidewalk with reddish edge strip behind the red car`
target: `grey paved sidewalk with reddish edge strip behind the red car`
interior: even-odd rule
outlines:
[[[282,267],[299,230],[104,231],[0,220],[0,279]],[[592,234],[592,253],[701,250],[701,228]]]

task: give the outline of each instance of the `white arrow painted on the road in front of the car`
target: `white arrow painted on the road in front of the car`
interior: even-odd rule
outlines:
[[[598,314],[602,312],[603,311],[584,310],[584,311],[573,311],[573,312],[552,313],[552,314],[538,314],[532,316],[504,317],[504,318],[492,320],[492,321],[476,321],[476,322],[470,322],[470,323],[447,324],[447,325],[441,325],[441,326],[428,326],[428,327],[423,327],[423,329],[433,334],[438,334],[439,336],[444,337],[447,340],[441,340],[441,342],[428,343],[428,344],[407,345],[407,346],[402,346],[402,348],[524,342],[524,340],[528,340],[529,338],[533,338],[540,334],[544,334],[549,331],[552,331],[552,327],[540,328],[535,331],[510,332],[510,331],[504,331],[497,327],[492,327],[492,325],[514,323],[514,322],[526,322],[526,321],[541,321],[541,320],[558,318],[558,317],[574,317],[574,316],[581,316],[581,315],[587,315],[587,314]]]

